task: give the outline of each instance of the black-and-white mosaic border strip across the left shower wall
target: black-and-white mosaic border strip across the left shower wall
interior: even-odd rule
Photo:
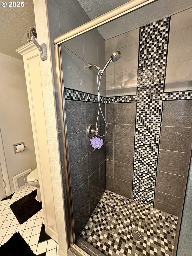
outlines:
[[[87,93],[80,92],[73,89],[64,88],[64,97],[67,100],[73,101],[88,101],[88,102],[98,102],[98,96]],[[105,97],[101,96],[101,103],[105,103]]]

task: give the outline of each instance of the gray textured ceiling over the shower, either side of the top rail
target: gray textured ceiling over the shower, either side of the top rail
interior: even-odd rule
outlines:
[[[123,5],[128,0],[78,0],[88,17],[93,20],[102,14]],[[191,0],[158,0],[119,19],[107,23],[98,31],[105,40],[116,35],[139,28],[145,24],[160,20],[192,7]]]

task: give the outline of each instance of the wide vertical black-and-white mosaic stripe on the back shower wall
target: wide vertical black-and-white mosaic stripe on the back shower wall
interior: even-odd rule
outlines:
[[[132,199],[153,206],[170,17],[140,28]]]

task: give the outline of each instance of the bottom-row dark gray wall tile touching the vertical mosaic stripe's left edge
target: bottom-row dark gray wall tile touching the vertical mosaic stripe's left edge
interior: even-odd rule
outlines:
[[[128,197],[131,199],[132,196],[132,183],[119,180],[119,179],[113,179],[113,192],[116,194],[120,194],[123,197]]]

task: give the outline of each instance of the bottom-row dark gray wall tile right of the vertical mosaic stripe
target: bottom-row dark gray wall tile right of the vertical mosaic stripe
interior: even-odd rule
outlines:
[[[181,198],[161,192],[155,192],[154,207],[160,211],[179,216]]]

